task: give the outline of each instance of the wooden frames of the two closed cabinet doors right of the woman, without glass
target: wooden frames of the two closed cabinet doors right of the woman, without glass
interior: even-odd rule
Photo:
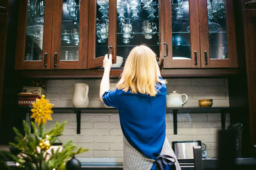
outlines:
[[[191,59],[188,60],[172,59],[172,4],[171,1],[163,2],[164,42],[168,44],[169,50],[169,55],[164,58],[164,68],[237,68],[236,23],[232,1],[225,1],[228,59],[210,59],[207,1],[189,1]],[[205,51],[207,65],[205,65]]]

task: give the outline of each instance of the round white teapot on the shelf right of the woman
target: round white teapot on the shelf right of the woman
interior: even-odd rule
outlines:
[[[172,91],[173,93],[170,93],[167,95],[166,105],[167,107],[183,107],[186,102],[188,102],[188,95],[186,94],[179,94],[176,93],[176,91]],[[186,97],[185,101],[182,100],[182,95]]]

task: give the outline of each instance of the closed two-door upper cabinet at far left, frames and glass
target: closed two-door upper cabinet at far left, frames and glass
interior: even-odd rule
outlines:
[[[15,69],[87,68],[88,1],[19,1]]]

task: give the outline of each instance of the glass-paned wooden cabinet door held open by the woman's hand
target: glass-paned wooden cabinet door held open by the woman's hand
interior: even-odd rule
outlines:
[[[115,63],[116,0],[92,0],[89,13],[88,68],[102,66],[108,52]]]

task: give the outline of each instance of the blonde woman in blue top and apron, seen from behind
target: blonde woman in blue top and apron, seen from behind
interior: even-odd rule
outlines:
[[[124,134],[124,169],[180,169],[165,134],[166,85],[156,54],[147,46],[131,50],[116,89],[109,90],[112,56],[105,56],[100,100],[119,111]]]

